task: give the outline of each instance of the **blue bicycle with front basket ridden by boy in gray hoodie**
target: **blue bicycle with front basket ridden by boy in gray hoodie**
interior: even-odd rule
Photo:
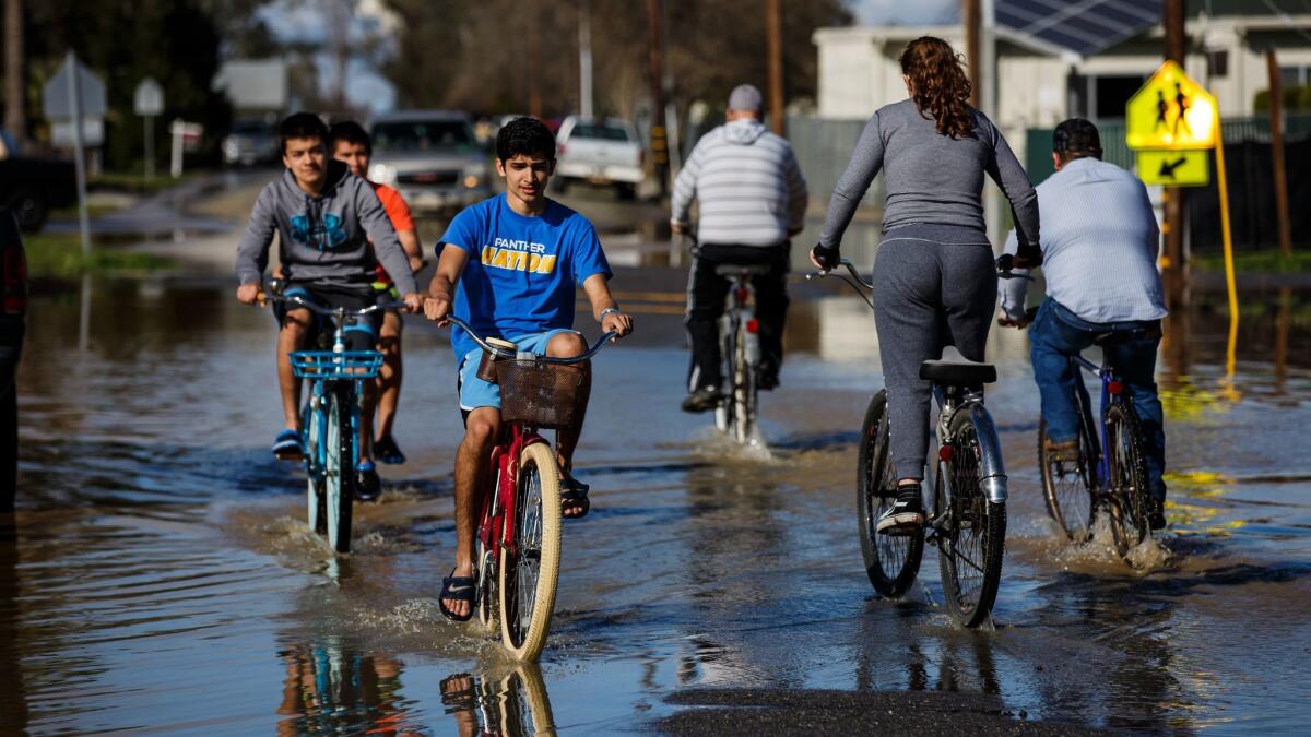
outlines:
[[[404,302],[378,303],[363,309],[321,307],[300,296],[262,294],[261,300],[304,307],[333,323],[332,350],[299,350],[291,354],[296,378],[309,382],[302,407],[304,438],[305,502],[309,527],[328,536],[337,552],[350,552],[351,505],[355,497],[355,464],[359,463],[361,416],[364,382],[372,382],[383,365],[376,350],[346,350],[345,333],[359,317],[383,309],[405,308]]]

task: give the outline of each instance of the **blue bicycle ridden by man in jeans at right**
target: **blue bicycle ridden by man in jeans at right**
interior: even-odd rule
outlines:
[[[1096,345],[1105,348],[1114,340],[1114,334],[1101,336]],[[1093,420],[1088,388],[1076,380],[1079,458],[1051,452],[1046,443],[1046,422],[1038,424],[1038,468],[1042,469],[1047,514],[1076,543],[1091,539],[1097,515],[1105,514],[1116,549],[1124,556],[1151,535],[1151,497],[1141,422],[1129,387],[1116,376],[1109,362],[1097,366],[1083,355],[1074,355],[1070,363],[1080,379],[1080,371],[1101,379],[1101,421]]]

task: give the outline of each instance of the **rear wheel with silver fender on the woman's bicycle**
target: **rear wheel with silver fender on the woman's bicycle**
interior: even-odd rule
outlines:
[[[939,463],[935,484],[937,509],[949,513],[939,538],[937,561],[952,616],[965,627],[978,627],[992,612],[1002,582],[1006,504],[988,501],[981,488],[982,450],[968,408],[952,417],[948,431],[952,454]]]

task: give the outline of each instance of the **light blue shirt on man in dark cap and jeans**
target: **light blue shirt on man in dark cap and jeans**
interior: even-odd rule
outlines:
[[[1138,177],[1097,159],[1075,159],[1037,190],[1049,298],[1089,323],[1167,315],[1156,270],[1160,229]],[[1011,231],[1006,252],[1015,249]],[[1027,283],[999,282],[1002,311],[1011,319],[1024,315]]]

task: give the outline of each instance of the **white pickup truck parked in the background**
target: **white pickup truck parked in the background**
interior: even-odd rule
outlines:
[[[619,118],[569,115],[556,134],[556,159],[561,188],[586,181],[614,186],[620,199],[632,199],[644,177],[637,131]]]

